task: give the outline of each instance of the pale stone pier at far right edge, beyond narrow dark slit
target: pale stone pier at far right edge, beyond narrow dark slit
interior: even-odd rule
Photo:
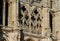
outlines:
[[[52,16],[53,16],[53,40],[60,41],[60,10],[58,10],[58,0],[53,0]],[[60,9],[60,8],[59,8]]]

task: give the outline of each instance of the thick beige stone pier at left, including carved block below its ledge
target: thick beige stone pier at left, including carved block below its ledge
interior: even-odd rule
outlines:
[[[6,41],[18,41],[18,27],[17,27],[17,1],[8,0],[8,27],[4,29],[6,34]]]

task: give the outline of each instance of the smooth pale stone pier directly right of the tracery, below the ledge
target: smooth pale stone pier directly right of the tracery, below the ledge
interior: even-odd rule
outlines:
[[[42,41],[51,41],[49,28],[49,8],[42,9]]]

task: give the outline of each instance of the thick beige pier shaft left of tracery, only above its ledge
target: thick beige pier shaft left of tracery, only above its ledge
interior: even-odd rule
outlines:
[[[17,2],[16,0],[8,1],[9,4],[9,12],[8,12],[8,26],[13,29],[17,28]]]

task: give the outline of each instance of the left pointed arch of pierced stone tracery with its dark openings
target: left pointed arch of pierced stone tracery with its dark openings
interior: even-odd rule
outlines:
[[[29,15],[28,15],[28,11],[26,9],[26,6],[21,5],[19,7],[19,23],[21,25],[28,25],[28,19],[29,19]]]

